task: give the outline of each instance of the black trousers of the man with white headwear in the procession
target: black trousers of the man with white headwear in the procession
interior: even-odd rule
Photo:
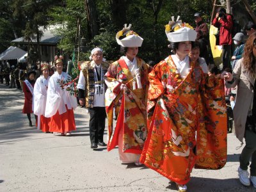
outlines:
[[[88,108],[90,113],[90,140],[91,143],[98,143],[103,141],[106,109],[104,107]]]

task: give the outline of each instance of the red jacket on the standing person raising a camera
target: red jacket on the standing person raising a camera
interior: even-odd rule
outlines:
[[[226,19],[221,18],[220,20],[217,20],[217,18],[214,17],[212,25],[216,28],[220,28],[220,45],[231,45],[233,19],[231,15],[225,16]]]

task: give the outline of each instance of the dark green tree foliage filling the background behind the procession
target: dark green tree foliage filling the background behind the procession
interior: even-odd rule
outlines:
[[[237,1],[232,1],[235,4]],[[248,0],[256,12],[255,0]],[[0,0],[0,50],[8,46],[8,41],[24,35],[33,38],[42,35],[38,26],[54,25],[54,34],[61,36],[58,49],[71,56],[76,50],[73,76],[77,70],[78,28],[81,23],[81,37],[86,41],[86,52],[80,52],[79,60],[88,60],[94,47],[104,50],[107,60],[115,61],[121,56],[120,46],[115,35],[122,29],[122,24],[131,23],[132,30],[143,39],[138,56],[158,63],[170,54],[169,44],[164,33],[164,26],[172,16],[195,27],[194,13],[200,12],[209,24],[211,21],[212,0],[95,0],[97,8],[97,26],[99,33],[90,40],[84,0]],[[219,4],[219,3],[218,3]],[[239,6],[242,4],[239,3]],[[159,6],[159,12],[157,7]],[[23,34],[22,34],[23,33]]]

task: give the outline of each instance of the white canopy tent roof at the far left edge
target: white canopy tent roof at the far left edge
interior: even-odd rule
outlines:
[[[10,46],[0,54],[0,60],[18,60],[24,54],[26,54],[26,51],[23,51],[19,47]]]

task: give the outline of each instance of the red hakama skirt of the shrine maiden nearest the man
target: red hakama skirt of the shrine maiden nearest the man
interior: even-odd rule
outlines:
[[[73,109],[68,109],[66,105],[67,111],[60,115],[59,111],[53,116],[51,116],[50,123],[50,132],[70,132],[76,130],[74,111]]]

